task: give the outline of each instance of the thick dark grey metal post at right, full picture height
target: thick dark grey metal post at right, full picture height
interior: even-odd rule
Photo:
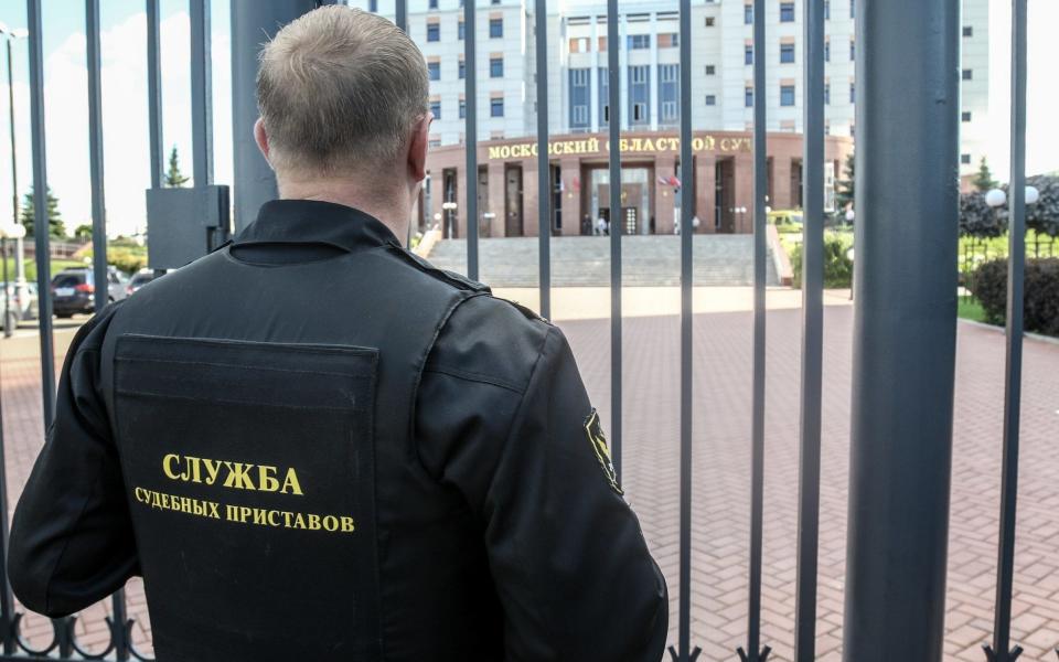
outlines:
[[[856,0],[844,660],[942,655],[956,337],[959,0]]]

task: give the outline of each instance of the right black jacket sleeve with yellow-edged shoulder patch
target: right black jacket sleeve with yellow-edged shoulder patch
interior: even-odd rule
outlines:
[[[657,662],[665,580],[610,473],[570,348],[548,327],[521,398],[479,412],[445,462],[484,523],[505,659]],[[506,409],[506,410],[503,410]]]

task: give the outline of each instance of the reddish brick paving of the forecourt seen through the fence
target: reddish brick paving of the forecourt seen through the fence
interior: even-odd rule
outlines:
[[[708,292],[707,292],[708,296]],[[771,295],[770,295],[771,296]],[[853,310],[825,312],[817,656],[842,650]],[[798,495],[800,313],[769,313],[762,641],[791,660]],[[736,660],[745,643],[749,540],[750,332],[748,312],[695,317],[692,642],[702,660]],[[561,322],[596,406],[609,419],[609,321]],[[624,485],[670,579],[676,638],[678,569],[680,323],[676,316],[624,323]],[[63,339],[57,338],[60,354]],[[0,342],[9,493],[17,495],[41,445],[35,342]],[[1055,660],[1059,644],[1059,344],[1027,340],[1015,563],[1014,641],[1023,660]],[[945,660],[981,662],[992,632],[1003,417],[1003,335],[961,323],[956,367]],[[609,429],[609,428],[608,428]],[[149,650],[142,585],[128,588],[136,641]],[[83,641],[99,650],[109,605],[82,615]],[[50,626],[28,617],[40,644]],[[895,632],[895,642],[900,633]]]

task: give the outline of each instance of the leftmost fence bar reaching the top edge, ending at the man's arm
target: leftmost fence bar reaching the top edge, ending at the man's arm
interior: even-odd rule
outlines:
[[[47,160],[44,143],[44,33],[41,0],[26,0],[30,28],[30,122],[33,142],[33,238],[41,335],[41,394],[44,429],[55,415],[55,357],[52,341],[51,246],[47,222]]]

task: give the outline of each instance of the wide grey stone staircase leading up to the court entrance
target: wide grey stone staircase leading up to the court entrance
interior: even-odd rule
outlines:
[[[696,235],[693,237],[696,286],[753,285],[753,237]],[[610,285],[610,237],[553,237],[552,286]],[[537,287],[537,237],[479,241],[479,279],[492,287]],[[673,235],[624,236],[621,239],[622,285],[630,287],[681,284],[681,238]],[[427,258],[434,265],[467,274],[467,242],[438,242]],[[771,249],[768,284],[779,285]]]

